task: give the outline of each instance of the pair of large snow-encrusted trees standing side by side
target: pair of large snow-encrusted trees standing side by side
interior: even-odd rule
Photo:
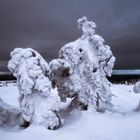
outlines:
[[[63,46],[49,64],[33,49],[16,48],[8,68],[17,78],[20,126],[42,124],[49,129],[61,125],[59,106],[71,98],[78,109],[103,112],[112,107],[110,83],[115,57],[104,39],[95,33],[96,24],[78,20],[82,36]],[[58,94],[52,92],[57,88]]]

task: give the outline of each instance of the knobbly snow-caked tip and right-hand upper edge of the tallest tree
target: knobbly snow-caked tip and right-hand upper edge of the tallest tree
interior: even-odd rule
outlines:
[[[111,76],[115,57],[111,52],[110,46],[104,45],[104,39],[95,34],[96,24],[92,21],[88,21],[87,17],[83,17],[78,20],[78,25],[83,31],[82,38],[87,39],[90,45],[96,50],[101,67],[107,76]]]

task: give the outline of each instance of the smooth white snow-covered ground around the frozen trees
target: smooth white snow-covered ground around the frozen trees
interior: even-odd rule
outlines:
[[[116,112],[97,113],[74,110],[57,130],[32,125],[25,130],[0,129],[0,140],[139,140],[140,112],[135,112],[140,94],[133,85],[113,85],[112,103]],[[0,97],[18,106],[16,86],[0,87]]]

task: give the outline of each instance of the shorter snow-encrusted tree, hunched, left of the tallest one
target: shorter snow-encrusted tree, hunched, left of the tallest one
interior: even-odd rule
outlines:
[[[8,68],[17,78],[21,126],[33,121],[49,129],[59,127],[60,100],[51,91],[50,69],[41,55],[31,48],[16,48],[11,52]]]

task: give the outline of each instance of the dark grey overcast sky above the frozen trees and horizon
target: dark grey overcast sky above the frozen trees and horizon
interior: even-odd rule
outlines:
[[[76,20],[85,15],[112,47],[116,68],[140,68],[139,7],[139,0],[0,0],[0,60],[15,47],[57,57],[60,47],[79,37]]]

